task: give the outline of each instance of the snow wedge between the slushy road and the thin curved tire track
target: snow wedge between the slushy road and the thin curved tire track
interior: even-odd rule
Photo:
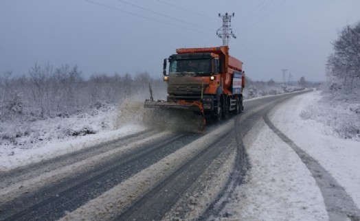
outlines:
[[[245,138],[251,170],[222,220],[328,220],[315,179],[261,120]]]

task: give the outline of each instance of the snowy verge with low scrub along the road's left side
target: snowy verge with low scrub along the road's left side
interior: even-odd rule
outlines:
[[[142,102],[128,105],[138,106]],[[12,137],[0,141],[0,172],[146,130],[146,126],[137,124],[137,119],[129,120],[135,115],[130,115],[130,111],[128,107],[111,106],[66,118],[1,125],[6,127],[3,135]],[[23,135],[25,132],[27,135]]]

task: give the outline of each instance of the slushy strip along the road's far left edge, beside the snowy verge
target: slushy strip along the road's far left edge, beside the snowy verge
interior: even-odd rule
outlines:
[[[135,135],[139,135],[136,133]],[[110,160],[111,156],[120,156],[139,148],[144,142],[152,139],[157,139],[166,136],[166,133],[147,133],[146,138],[135,141],[136,137],[126,136],[120,139],[115,139],[112,142],[102,143],[96,146],[82,149],[78,152],[74,152],[74,156],[71,158],[71,153],[65,154],[65,156],[59,156],[54,159],[49,159],[45,162],[34,163],[29,165],[29,168],[33,170],[28,171],[23,167],[12,170],[14,174],[8,174],[5,178],[1,177],[0,183],[0,207],[3,207],[6,203],[21,198],[31,198],[32,194],[36,194],[36,191],[43,187],[49,187],[54,189],[54,185],[60,185],[60,183],[66,182],[66,178],[73,178],[78,176],[82,172],[92,170],[95,165],[98,165],[104,159]],[[123,145],[120,145],[123,143]],[[78,156],[81,154],[81,156]],[[71,159],[68,159],[71,158]],[[3,178],[3,179],[2,179]],[[43,196],[44,198],[46,196]],[[39,199],[38,199],[39,200]],[[0,213],[0,218],[1,218]]]

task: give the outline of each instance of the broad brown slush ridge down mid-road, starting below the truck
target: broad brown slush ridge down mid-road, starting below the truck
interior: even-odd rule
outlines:
[[[215,130],[209,132],[207,135],[204,135],[192,143],[183,146],[176,152],[173,152],[164,159],[161,159],[161,161],[150,165],[131,178],[128,178],[123,183],[120,183],[120,185],[106,191],[102,194],[102,196],[90,200],[86,205],[79,207],[61,220],[80,220],[80,218],[85,220],[113,220],[115,218],[120,218],[119,214],[122,214],[130,209],[132,205],[141,200],[143,196],[161,184],[166,178],[177,172],[177,170],[183,167],[186,163],[192,161],[194,156],[199,156],[203,150],[208,149],[212,145],[217,146],[214,143],[216,143],[218,137],[227,135],[231,128],[232,124],[221,125]],[[222,146],[217,146],[217,148],[221,147]],[[162,193],[166,194],[167,192],[162,191]],[[153,207],[150,207],[148,211],[150,209],[157,211],[155,206],[157,205],[153,205]],[[143,217],[146,216],[143,220],[153,220],[146,214],[140,215]],[[133,220],[131,218],[129,219]]]

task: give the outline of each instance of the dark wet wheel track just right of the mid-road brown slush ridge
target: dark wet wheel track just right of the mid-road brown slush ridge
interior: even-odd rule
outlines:
[[[166,211],[175,205],[177,198],[183,196],[221,152],[234,145],[233,133],[223,135],[197,154],[115,220],[164,220]]]

